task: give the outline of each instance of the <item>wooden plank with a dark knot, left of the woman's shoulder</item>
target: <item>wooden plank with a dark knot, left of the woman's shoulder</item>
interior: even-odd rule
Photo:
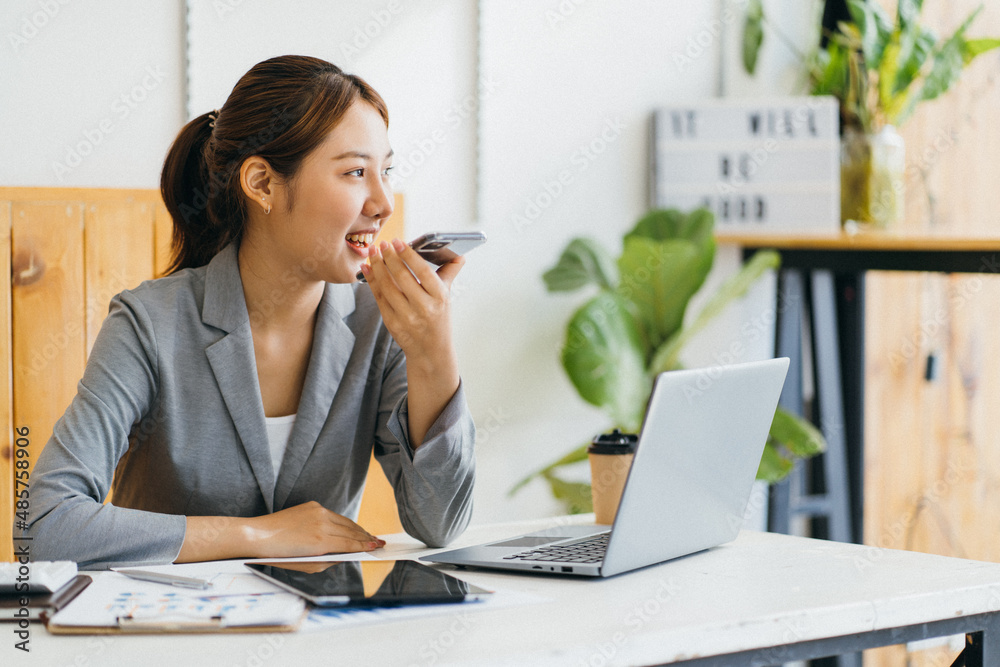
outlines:
[[[83,206],[15,202],[11,218],[14,425],[34,466],[83,375]]]

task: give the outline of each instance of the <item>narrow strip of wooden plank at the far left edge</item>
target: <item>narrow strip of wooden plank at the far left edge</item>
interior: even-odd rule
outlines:
[[[14,521],[15,458],[10,326],[10,202],[0,201],[0,522],[3,522],[0,525],[3,526],[11,526]],[[18,487],[18,492],[23,488]],[[4,531],[0,529],[0,535],[3,534]],[[0,540],[0,562],[13,559],[14,546],[11,541]]]

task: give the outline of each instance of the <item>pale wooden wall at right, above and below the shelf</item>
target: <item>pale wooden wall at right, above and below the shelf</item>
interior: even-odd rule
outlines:
[[[895,0],[883,4],[895,12]],[[1000,35],[1000,3],[924,3],[921,20],[950,35],[980,4],[969,35]],[[994,51],[900,128],[904,231],[1000,234],[998,109]],[[867,289],[865,541],[1000,561],[1000,277],[870,274]],[[865,665],[949,665],[956,653],[893,647],[866,652]]]

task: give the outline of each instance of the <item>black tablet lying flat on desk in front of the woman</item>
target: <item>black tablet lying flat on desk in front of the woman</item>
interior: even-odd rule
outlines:
[[[492,592],[412,560],[258,561],[245,565],[318,607],[469,602]]]

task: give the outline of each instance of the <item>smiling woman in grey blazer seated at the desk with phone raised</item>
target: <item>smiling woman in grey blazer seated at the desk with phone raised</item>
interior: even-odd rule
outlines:
[[[387,127],[363,80],[282,56],[181,130],[161,179],[170,275],[111,302],[32,475],[36,560],[376,549],[349,518],[373,447],[408,533],[465,528],[475,427],[448,316],[463,261],[435,273],[398,240],[375,247]]]

